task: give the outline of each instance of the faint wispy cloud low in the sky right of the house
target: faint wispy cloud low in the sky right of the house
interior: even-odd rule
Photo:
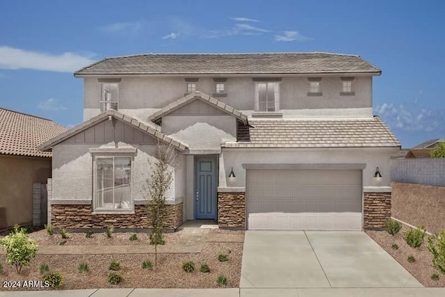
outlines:
[[[401,104],[394,106],[393,104],[382,104],[376,106],[375,113],[387,122],[391,128],[403,129],[406,131],[435,131],[444,125],[444,111],[431,109],[419,109],[416,107],[414,111],[410,111]]]

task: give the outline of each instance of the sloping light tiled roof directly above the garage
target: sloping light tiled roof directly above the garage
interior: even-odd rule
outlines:
[[[401,147],[378,117],[369,119],[249,119],[250,141],[224,147]]]

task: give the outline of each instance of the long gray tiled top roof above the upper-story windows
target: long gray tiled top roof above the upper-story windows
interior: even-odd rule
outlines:
[[[83,67],[83,74],[321,74],[373,73],[381,70],[347,54],[141,54],[104,58]]]

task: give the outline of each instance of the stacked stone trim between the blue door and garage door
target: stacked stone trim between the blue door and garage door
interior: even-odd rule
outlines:
[[[245,192],[218,192],[218,226],[245,229]]]

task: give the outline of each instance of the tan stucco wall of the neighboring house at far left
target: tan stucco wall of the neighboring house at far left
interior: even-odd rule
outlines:
[[[8,226],[32,223],[33,182],[49,177],[51,159],[0,156],[0,207],[6,207]]]

